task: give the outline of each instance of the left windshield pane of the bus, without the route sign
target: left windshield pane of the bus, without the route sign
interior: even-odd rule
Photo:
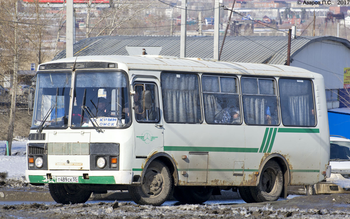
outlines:
[[[37,74],[32,128],[68,126],[71,73]]]

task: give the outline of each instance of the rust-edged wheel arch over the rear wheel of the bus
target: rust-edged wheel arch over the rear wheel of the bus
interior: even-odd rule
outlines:
[[[270,154],[264,161],[262,161],[260,167],[259,167],[259,175],[258,175],[258,179],[257,179],[257,184],[259,184],[259,180],[260,180],[260,175],[262,174],[262,168],[264,168],[265,164],[267,163],[267,161],[269,160],[274,160],[276,161],[281,169],[282,169],[282,173],[283,173],[283,189],[281,192],[281,197],[282,198],[287,198],[287,187],[290,183],[290,169],[289,169],[289,165],[288,165],[288,161],[285,157],[283,157],[281,154],[279,153],[273,153]]]

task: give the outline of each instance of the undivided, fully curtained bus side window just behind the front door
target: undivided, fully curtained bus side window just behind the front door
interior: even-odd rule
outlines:
[[[196,74],[162,73],[164,120],[169,123],[201,123],[201,99]]]

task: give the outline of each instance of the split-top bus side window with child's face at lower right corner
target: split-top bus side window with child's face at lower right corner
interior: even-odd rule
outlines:
[[[240,124],[237,79],[224,76],[203,76],[204,116],[208,124]]]

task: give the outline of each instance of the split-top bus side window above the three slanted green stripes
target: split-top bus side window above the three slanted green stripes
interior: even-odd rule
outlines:
[[[246,124],[279,124],[276,86],[273,79],[242,78],[242,104]]]

